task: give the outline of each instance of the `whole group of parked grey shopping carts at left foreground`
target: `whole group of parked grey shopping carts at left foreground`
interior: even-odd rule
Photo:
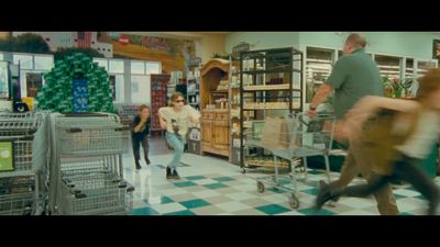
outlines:
[[[114,114],[0,113],[0,214],[127,214],[129,143]]]

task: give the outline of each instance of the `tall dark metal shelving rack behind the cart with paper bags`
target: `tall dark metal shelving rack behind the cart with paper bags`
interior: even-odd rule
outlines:
[[[244,126],[266,115],[289,115],[302,111],[301,50],[293,47],[250,50],[240,54],[240,167],[250,168],[246,157],[264,156],[267,151],[245,145]],[[252,150],[251,150],[252,149]],[[252,153],[252,154],[251,154]],[[255,157],[253,157],[255,160]],[[258,166],[253,162],[252,167]]]

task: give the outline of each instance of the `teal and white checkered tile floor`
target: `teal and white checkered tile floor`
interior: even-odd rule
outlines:
[[[242,175],[227,160],[185,154],[185,165],[178,169],[182,179],[167,180],[165,166],[170,158],[170,154],[151,155],[152,165],[135,171],[131,154],[124,157],[124,177],[135,186],[132,215],[378,215],[372,197],[341,198],[314,212],[317,183],[326,180],[321,170],[312,170],[306,182],[298,183],[296,197],[300,204],[294,210],[287,192],[270,187],[257,192],[255,179],[267,172],[250,169]],[[333,180],[338,177],[337,172],[331,176]],[[363,180],[353,181],[360,182]],[[436,182],[440,184],[440,179]],[[426,212],[427,202],[409,186],[395,188],[394,193],[402,215]]]

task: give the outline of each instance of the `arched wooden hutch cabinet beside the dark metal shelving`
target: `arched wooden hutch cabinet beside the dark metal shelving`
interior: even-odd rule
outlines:
[[[200,109],[201,109],[201,151],[229,157],[230,154],[230,124],[229,105],[223,109],[207,109],[216,104],[216,97],[229,99],[228,90],[217,90],[221,80],[228,80],[229,60],[211,59],[201,69]]]

